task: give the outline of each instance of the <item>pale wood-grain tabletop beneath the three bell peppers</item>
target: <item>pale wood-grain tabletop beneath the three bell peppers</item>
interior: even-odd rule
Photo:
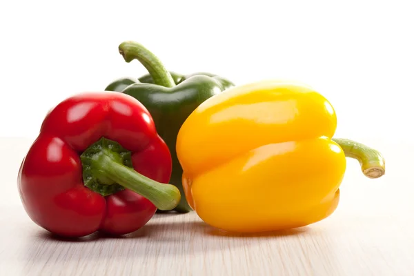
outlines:
[[[192,212],[156,215],[126,237],[51,237],[21,206],[16,176],[30,139],[0,139],[0,275],[414,275],[413,161],[380,144],[387,172],[367,179],[348,160],[339,208],[317,224],[231,236]],[[399,161],[397,159],[400,159]],[[243,212],[243,210],[240,210]]]

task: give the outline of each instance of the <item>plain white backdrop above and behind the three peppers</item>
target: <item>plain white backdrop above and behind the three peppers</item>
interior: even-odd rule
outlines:
[[[117,47],[135,40],[169,70],[237,84],[294,79],[333,104],[337,137],[408,139],[410,1],[1,1],[0,137],[36,137],[69,95],[139,77]]]

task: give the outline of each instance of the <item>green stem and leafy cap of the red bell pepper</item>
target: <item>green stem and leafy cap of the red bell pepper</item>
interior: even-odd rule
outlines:
[[[181,200],[179,189],[159,183],[132,168],[131,152],[115,141],[101,138],[81,155],[83,184],[104,197],[133,190],[152,202],[159,210],[172,210]]]

